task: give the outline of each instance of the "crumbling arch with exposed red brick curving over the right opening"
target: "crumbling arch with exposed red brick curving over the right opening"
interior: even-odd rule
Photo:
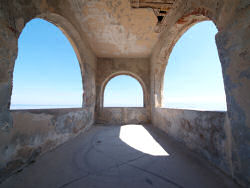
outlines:
[[[165,19],[167,20],[167,19]],[[183,11],[183,14],[176,19],[174,24],[169,23],[170,27],[166,28],[164,33],[162,33],[159,40],[159,46],[152,54],[152,60],[155,61],[155,66],[153,67],[153,72],[155,77],[153,78],[154,88],[153,88],[153,101],[154,107],[162,107],[163,105],[163,83],[164,83],[164,73],[166,66],[168,64],[169,56],[181,36],[193,25],[202,21],[213,21],[216,25],[218,31],[220,30],[216,24],[215,15],[209,9],[193,7],[188,9],[188,11]],[[168,25],[168,23],[166,23]]]

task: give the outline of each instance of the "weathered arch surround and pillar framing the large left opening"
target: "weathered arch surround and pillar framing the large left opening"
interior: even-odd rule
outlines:
[[[2,41],[6,41],[6,45],[3,46],[4,50],[6,51],[6,56],[2,57],[4,60],[4,64],[1,65],[1,86],[0,86],[0,104],[1,104],[1,113],[0,113],[0,123],[4,126],[2,126],[3,129],[8,129],[8,127],[12,126],[12,118],[9,113],[9,107],[10,107],[10,100],[11,100],[11,93],[12,93],[12,79],[13,79],[13,70],[15,65],[15,60],[18,54],[18,38],[25,27],[25,24],[29,22],[30,20],[34,18],[41,18],[45,21],[51,22],[55,26],[57,26],[67,37],[67,39],[70,41],[81,70],[81,76],[82,76],[82,85],[83,85],[83,107],[91,107],[92,110],[94,99],[95,97],[95,89],[93,89],[95,86],[95,83],[93,83],[93,68],[86,62],[86,59],[88,59],[86,56],[89,54],[85,54],[85,49],[87,48],[84,44],[82,37],[78,33],[78,31],[75,29],[75,27],[63,16],[56,14],[56,13],[42,13],[38,14],[36,16],[33,16],[29,18],[29,20],[26,20],[24,23],[23,19],[19,19],[17,24],[17,29],[12,29],[12,27],[3,27],[2,32],[5,33],[3,36],[6,36],[6,38],[2,39]],[[4,53],[2,54],[4,55]]]

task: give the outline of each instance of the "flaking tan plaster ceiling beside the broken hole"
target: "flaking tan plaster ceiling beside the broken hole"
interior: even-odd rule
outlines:
[[[148,57],[158,40],[152,9],[133,9],[129,0],[73,0],[88,43],[98,57]],[[76,10],[76,9],[75,9]]]

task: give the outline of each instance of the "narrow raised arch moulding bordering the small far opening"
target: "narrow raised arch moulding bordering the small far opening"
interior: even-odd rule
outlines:
[[[111,74],[111,75],[109,75],[103,82],[102,82],[102,84],[101,84],[101,92],[100,92],[100,96],[99,96],[99,98],[100,98],[100,107],[101,108],[103,108],[103,104],[104,104],[104,91],[105,91],[105,88],[106,88],[106,86],[107,86],[107,84],[108,84],[108,82],[112,79],[112,78],[114,78],[114,77],[116,77],[116,76],[121,76],[121,75],[127,75],[127,76],[131,76],[132,78],[134,78],[134,79],[136,79],[139,83],[140,83],[140,85],[141,85],[141,87],[142,87],[142,91],[143,91],[143,107],[145,107],[147,104],[146,104],[146,99],[147,99],[147,90],[146,90],[146,85],[145,85],[145,83],[143,82],[143,80],[139,77],[139,76],[137,76],[136,74],[134,74],[134,73],[132,73],[132,72],[129,72],[129,71],[119,71],[119,72],[116,72],[116,73],[113,73],[113,74]]]

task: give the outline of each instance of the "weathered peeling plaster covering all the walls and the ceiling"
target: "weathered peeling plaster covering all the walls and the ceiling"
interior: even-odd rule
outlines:
[[[153,5],[156,2],[158,0],[150,0]],[[132,9],[129,1],[0,2],[1,178],[31,162],[39,153],[78,134],[81,128],[84,130],[94,121],[122,124],[152,119],[154,126],[200,153],[242,185],[249,185],[249,0],[171,2],[160,34],[154,33],[157,18],[152,9]],[[74,47],[81,66],[84,108],[63,112],[9,111],[18,37],[25,24],[37,17],[58,26]],[[160,109],[169,55],[181,35],[203,20],[212,20],[219,31],[216,44],[228,112]],[[141,83],[144,108],[102,107],[106,83],[120,74],[131,75]],[[50,145],[45,144],[46,141],[50,143],[51,139],[51,146],[46,146]]]

